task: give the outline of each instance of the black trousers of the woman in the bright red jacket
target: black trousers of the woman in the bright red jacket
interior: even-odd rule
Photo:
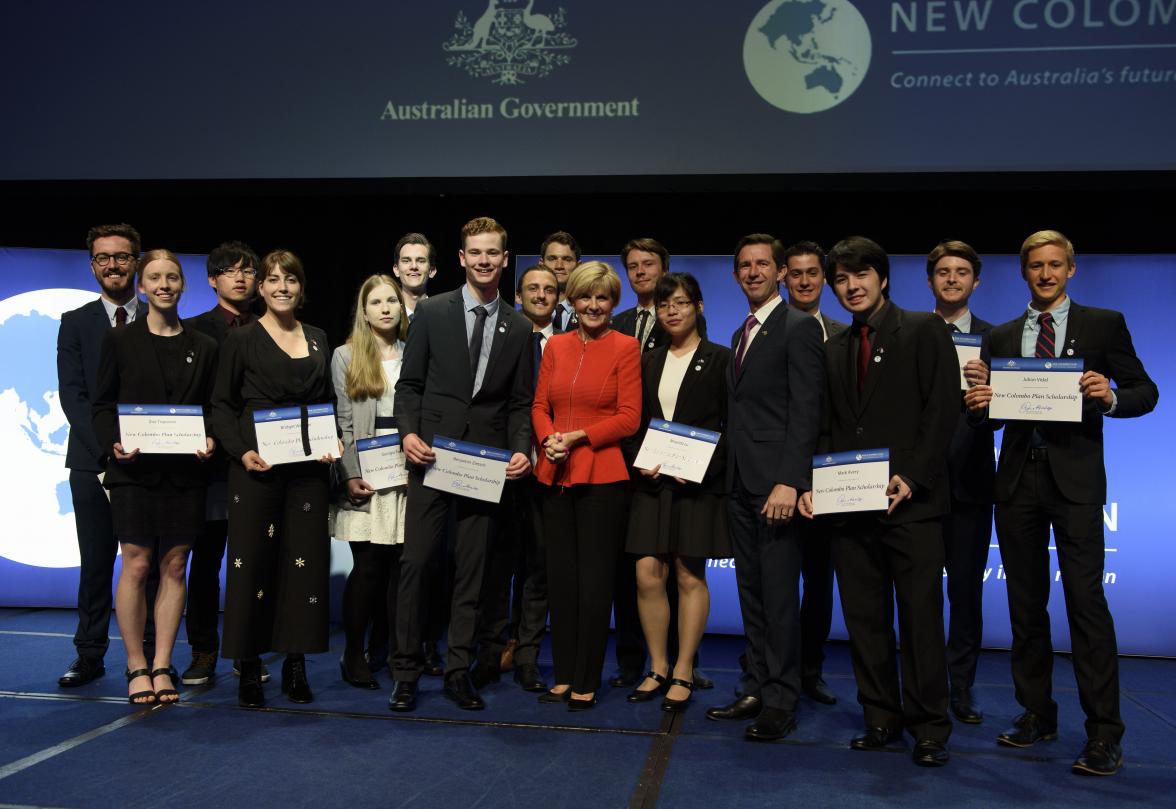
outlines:
[[[555,682],[570,683],[577,694],[600,689],[617,557],[629,517],[628,486],[624,481],[549,488],[542,495]]]

